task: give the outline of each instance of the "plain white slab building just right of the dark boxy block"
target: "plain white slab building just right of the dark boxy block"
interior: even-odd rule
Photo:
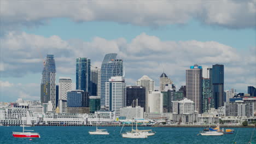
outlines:
[[[163,98],[162,93],[159,91],[155,91],[149,93],[148,95],[148,110],[149,113],[152,112],[163,112]]]

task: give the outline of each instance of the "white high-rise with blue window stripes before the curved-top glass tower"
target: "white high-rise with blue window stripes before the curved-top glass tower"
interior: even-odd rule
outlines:
[[[125,79],[123,76],[112,76],[105,86],[106,110],[115,111],[116,116],[120,116],[120,109],[126,106]]]

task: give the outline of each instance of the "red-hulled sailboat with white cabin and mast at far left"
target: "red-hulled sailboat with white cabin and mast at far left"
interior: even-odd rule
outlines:
[[[27,111],[27,122],[28,122],[28,118],[30,117],[29,115],[30,115],[30,113]],[[25,130],[24,129],[24,127],[30,127],[29,125],[23,124],[23,125],[21,125],[21,127],[23,127],[23,131],[22,132],[13,132],[13,137],[38,137],[38,138],[40,138],[39,133],[25,132],[25,131],[34,131],[34,130]]]

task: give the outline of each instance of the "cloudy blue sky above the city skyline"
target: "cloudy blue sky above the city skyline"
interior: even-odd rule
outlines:
[[[224,89],[256,86],[256,1],[0,0],[0,101],[40,99],[43,61],[75,83],[75,58],[123,59],[127,85],[164,72],[179,88],[190,65],[224,64]]]

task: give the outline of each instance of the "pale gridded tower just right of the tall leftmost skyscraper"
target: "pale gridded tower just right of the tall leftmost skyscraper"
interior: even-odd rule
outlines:
[[[67,100],[67,92],[72,89],[72,79],[70,77],[60,77],[59,79],[59,100]]]

